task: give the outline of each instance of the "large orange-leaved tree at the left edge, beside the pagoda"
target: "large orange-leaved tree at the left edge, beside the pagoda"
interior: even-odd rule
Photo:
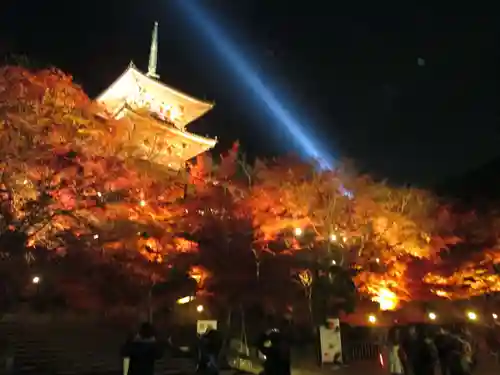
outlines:
[[[2,68],[0,102],[3,271],[18,276],[20,268],[11,262],[31,264],[35,248],[102,255],[117,228],[129,235],[133,228],[135,242],[141,228],[153,231],[144,194],[157,193],[158,211],[166,195],[158,185],[168,183],[158,184],[136,165],[127,126],[107,117],[71,77],[58,70]],[[113,230],[106,228],[109,222]],[[120,240],[126,242],[123,232]]]

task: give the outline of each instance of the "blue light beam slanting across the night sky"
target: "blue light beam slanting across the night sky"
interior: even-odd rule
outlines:
[[[256,98],[264,104],[271,115],[272,120],[283,128],[297,142],[301,153],[304,156],[315,159],[321,168],[331,169],[333,158],[327,152],[323,152],[319,143],[311,134],[305,131],[305,126],[296,119],[297,114],[291,113],[278,99],[278,95],[273,92],[268,84],[264,83],[262,77],[256,73],[256,69],[251,66],[248,59],[238,51],[238,43],[230,40],[225,32],[214,21],[213,16],[200,5],[200,2],[181,0],[177,2],[178,8],[185,13],[186,17],[215,48],[220,57],[224,59],[228,68],[240,78],[245,87],[251,91]]]

